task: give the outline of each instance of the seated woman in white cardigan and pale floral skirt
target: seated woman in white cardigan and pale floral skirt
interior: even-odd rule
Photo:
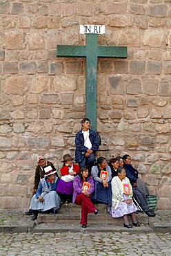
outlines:
[[[119,167],[117,169],[117,176],[112,179],[112,207],[108,208],[108,212],[114,218],[122,217],[126,228],[132,228],[133,226],[139,227],[135,212],[137,207],[132,202],[132,186],[128,178],[125,178],[125,169]],[[132,225],[128,221],[128,214],[131,214]]]

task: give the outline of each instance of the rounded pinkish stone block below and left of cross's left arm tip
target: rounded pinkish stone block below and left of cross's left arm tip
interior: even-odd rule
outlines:
[[[33,77],[30,86],[30,93],[41,93],[41,91],[48,89],[50,82],[50,78],[45,75]]]

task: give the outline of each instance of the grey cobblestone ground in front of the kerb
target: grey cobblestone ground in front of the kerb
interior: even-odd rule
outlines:
[[[0,255],[170,255],[170,233],[63,232],[0,234]]]

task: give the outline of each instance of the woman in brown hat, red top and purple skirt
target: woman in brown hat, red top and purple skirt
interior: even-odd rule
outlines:
[[[61,167],[61,179],[57,185],[57,192],[61,197],[61,203],[71,203],[74,176],[79,172],[79,165],[72,163],[73,158],[70,154],[63,156],[63,167]]]

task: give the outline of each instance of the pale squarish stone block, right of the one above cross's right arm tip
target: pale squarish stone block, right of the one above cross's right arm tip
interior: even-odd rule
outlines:
[[[150,47],[160,47],[165,37],[165,32],[162,28],[146,29],[143,33],[143,45]]]

